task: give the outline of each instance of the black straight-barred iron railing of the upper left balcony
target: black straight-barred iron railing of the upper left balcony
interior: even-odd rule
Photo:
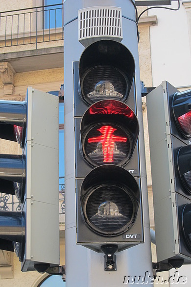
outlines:
[[[63,39],[63,3],[0,12],[0,48]]]

